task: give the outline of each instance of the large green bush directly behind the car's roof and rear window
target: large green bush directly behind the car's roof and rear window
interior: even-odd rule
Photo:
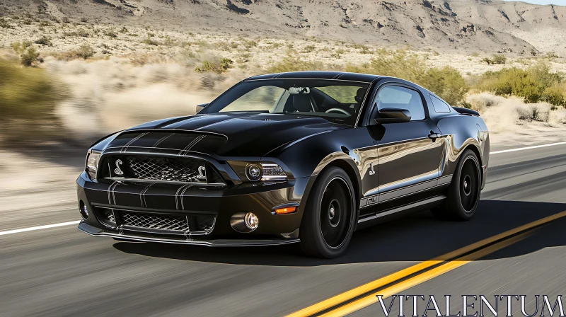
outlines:
[[[451,105],[463,102],[468,87],[459,71],[452,67],[427,67],[424,58],[406,50],[377,50],[369,64],[348,65],[346,71],[393,76],[429,89]]]

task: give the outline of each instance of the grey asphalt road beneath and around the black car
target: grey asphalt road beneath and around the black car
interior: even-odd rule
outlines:
[[[57,221],[78,219],[73,206],[66,209]],[[492,155],[473,220],[415,214],[358,231],[349,253],[334,260],[304,258],[295,246],[117,242],[76,226],[8,234],[0,236],[0,316],[282,316],[565,210],[566,145],[560,145]],[[35,225],[56,222],[46,217]],[[401,294],[566,295],[565,226],[559,219]],[[375,304],[354,314],[383,316]]]

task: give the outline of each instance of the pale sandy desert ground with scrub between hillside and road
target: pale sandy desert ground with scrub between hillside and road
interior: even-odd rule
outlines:
[[[317,38],[246,38],[32,18],[4,21],[10,27],[0,28],[3,58],[18,59],[11,47],[15,42],[28,41],[35,47],[39,57],[33,66],[45,69],[65,94],[55,108],[57,117],[79,139],[105,135],[147,120],[194,113],[195,105],[209,102],[241,79],[280,71],[288,64],[294,69],[340,70],[368,63],[375,54],[387,54],[378,45]],[[566,59],[550,53],[538,57],[508,54],[503,55],[504,64],[487,64],[484,59],[492,55],[484,52],[463,54],[409,47],[403,50],[415,54],[429,67],[453,67],[465,79],[510,67],[526,69],[540,60],[545,60],[552,72],[566,71]],[[221,59],[231,61],[229,68],[195,71],[204,63],[218,64]],[[467,98],[480,98],[473,97],[473,93]],[[504,101],[505,107],[495,108],[524,108],[518,98],[496,99],[497,104]],[[549,105],[538,107],[550,111]],[[553,110],[542,122],[521,121],[520,111],[512,111],[506,113],[503,121],[508,125],[504,127],[498,115],[490,117],[493,110],[481,108],[490,110],[486,120],[492,125],[492,142],[498,142],[499,132],[502,139],[509,140],[505,133],[511,133],[517,134],[512,139],[519,140],[533,129],[537,134],[556,135],[560,131],[560,135],[564,126],[563,109]],[[76,129],[77,120],[88,120],[90,124]],[[524,139],[528,142],[530,138]]]

